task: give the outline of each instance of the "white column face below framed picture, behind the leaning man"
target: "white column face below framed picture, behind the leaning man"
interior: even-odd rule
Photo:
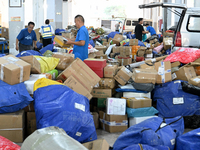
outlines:
[[[10,53],[16,54],[15,42],[17,35],[24,28],[24,3],[21,7],[9,7],[9,49]]]

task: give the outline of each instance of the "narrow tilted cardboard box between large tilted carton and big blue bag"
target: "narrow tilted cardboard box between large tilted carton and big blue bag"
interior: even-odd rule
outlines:
[[[70,76],[65,82],[64,84],[66,86],[68,86],[70,89],[72,89],[73,91],[87,97],[89,100],[92,98],[92,95],[90,94],[90,92],[85,89],[83,87],[83,85],[81,83],[79,83],[76,78],[74,78],[73,76]]]

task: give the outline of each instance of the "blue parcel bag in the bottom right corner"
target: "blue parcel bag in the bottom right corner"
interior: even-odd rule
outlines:
[[[176,150],[199,150],[200,128],[179,136],[176,141]]]

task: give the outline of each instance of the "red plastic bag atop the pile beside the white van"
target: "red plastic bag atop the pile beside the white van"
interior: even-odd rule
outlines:
[[[169,55],[164,61],[188,64],[200,58],[200,49],[194,48],[179,48],[177,51]]]

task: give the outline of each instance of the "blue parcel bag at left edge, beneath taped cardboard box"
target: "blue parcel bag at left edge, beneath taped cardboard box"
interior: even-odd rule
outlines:
[[[0,113],[19,111],[33,101],[24,83],[9,85],[0,80],[0,91]]]

